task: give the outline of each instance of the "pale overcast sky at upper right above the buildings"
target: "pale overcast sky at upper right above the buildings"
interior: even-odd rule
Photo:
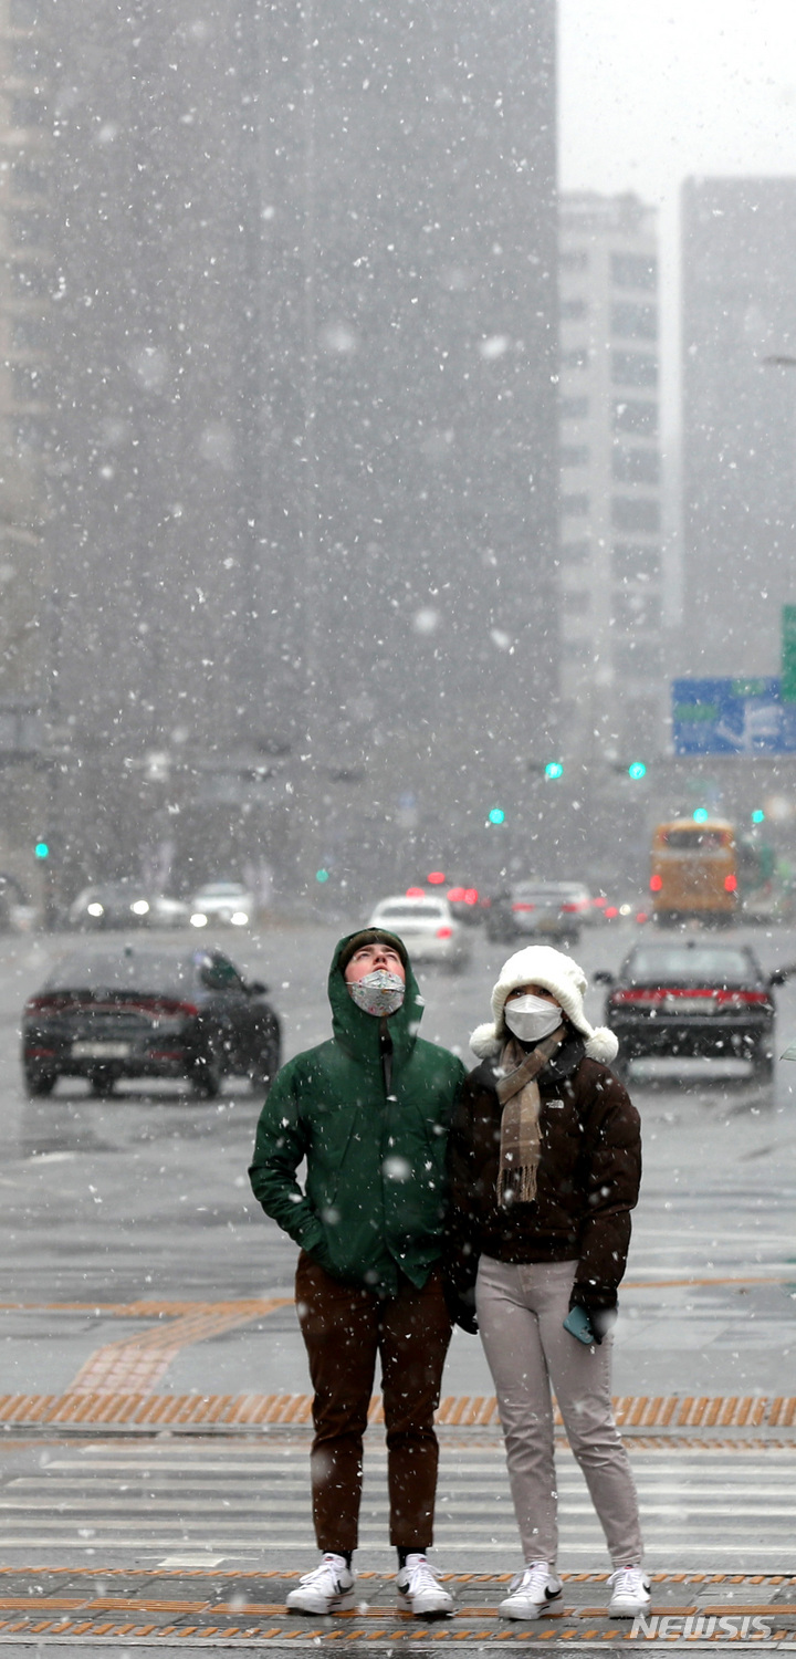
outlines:
[[[561,182],[662,209],[677,420],[677,202],[690,173],[796,174],[796,0],[559,0]]]

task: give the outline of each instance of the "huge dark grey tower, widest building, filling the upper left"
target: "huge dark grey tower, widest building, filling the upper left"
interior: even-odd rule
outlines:
[[[478,859],[556,718],[554,0],[48,12],[83,833]]]

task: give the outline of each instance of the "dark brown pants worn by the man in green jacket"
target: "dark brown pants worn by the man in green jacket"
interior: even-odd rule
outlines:
[[[418,1291],[401,1277],[381,1299],[338,1284],[305,1251],[295,1274],[298,1324],[315,1392],[310,1455],[312,1513],[318,1550],[358,1543],[362,1442],[368,1425],[376,1357],[385,1405],[390,1543],[433,1543],[439,1404],[451,1321],[439,1267]]]

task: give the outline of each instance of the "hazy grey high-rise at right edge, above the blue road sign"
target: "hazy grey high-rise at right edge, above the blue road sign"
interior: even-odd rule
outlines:
[[[796,179],[683,186],[683,672],[779,672],[796,597]]]

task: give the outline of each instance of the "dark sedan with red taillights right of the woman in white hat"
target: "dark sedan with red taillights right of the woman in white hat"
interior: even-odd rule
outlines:
[[[619,1067],[648,1057],[748,1060],[760,1078],[774,1068],[773,985],[796,967],[766,974],[748,946],[638,944],[610,987],[605,1024],[619,1037]]]

